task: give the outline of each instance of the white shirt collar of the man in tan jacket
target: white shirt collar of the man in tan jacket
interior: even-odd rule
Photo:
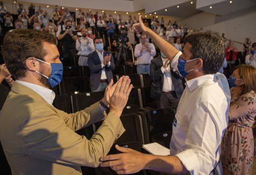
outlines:
[[[24,86],[27,86],[28,88],[36,91],[39,95],[41,95],[49,104],[53,103],[53,100],[55,99],[55,93],[51,90],[48,89],[46,87],[37,85],[37,84],[33,84],[33,83],[29,83],[29,82],[25,82],[25,81],[20,81],[20,80],[16,80],[17,83],[20,83]]]

